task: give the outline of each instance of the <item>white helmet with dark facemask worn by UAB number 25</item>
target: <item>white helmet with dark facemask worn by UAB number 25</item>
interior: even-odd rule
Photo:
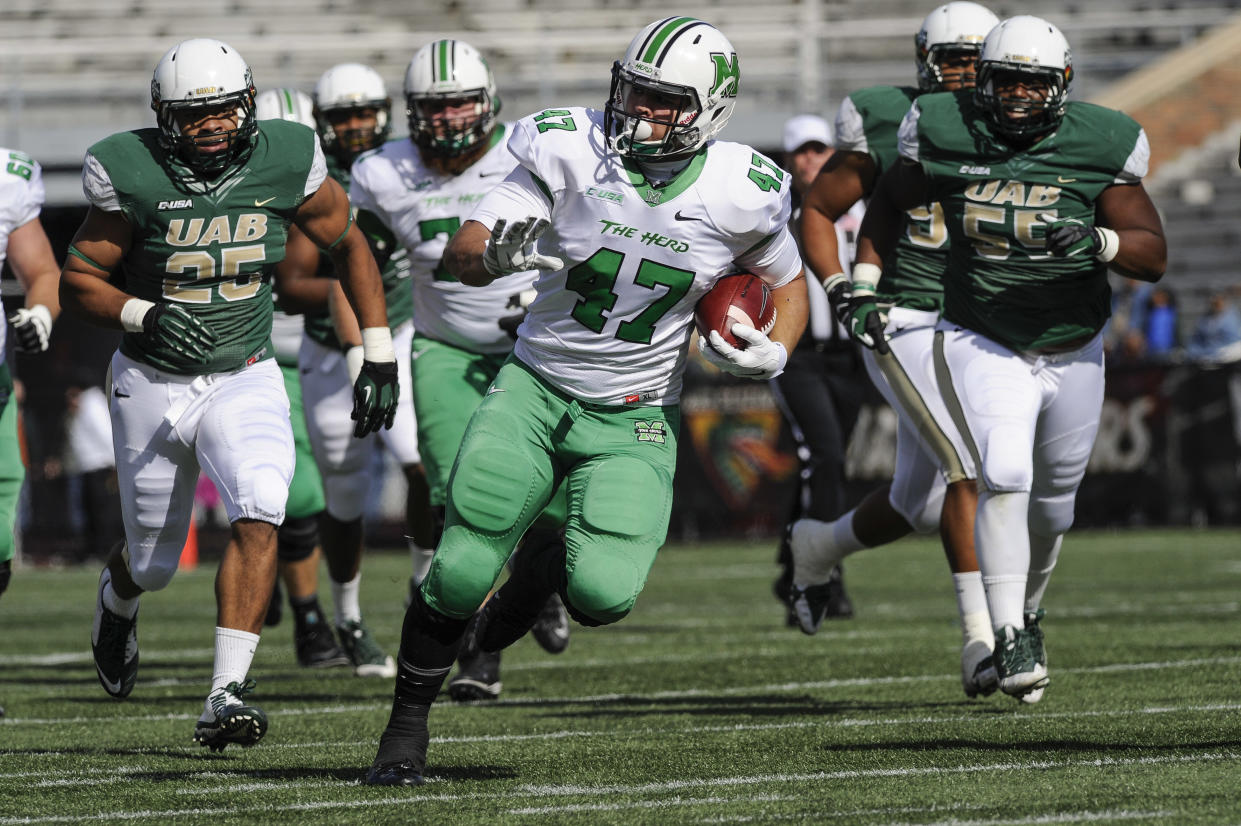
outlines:
[[[228,104],[237,107],[237,128],[223,133],[227,149],[200,151],[200,145],[218,144],[220,135],[190,138],[181,133],[177,115]],[[207,177],[244,160],[254,148],[254,81],[242,56],[222,41],[200,37],[168,50],[151,77],[151,109],[161,145]]]

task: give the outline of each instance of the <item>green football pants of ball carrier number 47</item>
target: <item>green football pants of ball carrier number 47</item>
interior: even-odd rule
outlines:
[[[511,357],[491,389],[448,480],[426,603],[470,616],[563,482],[563,597],[601,624],[622,619],[668,535],[680,408],[577,402]]]

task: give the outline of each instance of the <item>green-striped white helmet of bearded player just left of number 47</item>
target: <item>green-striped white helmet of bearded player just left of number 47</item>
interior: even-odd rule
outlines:
[[[473,99],[473,115],[446,120],[444,103],[462,99]],[[410,139],[419,149],[447,158],[460,155],[491,134],[499,112],[491,67],[469,43],[437,40],[410,61],[405,71],[405,113],[410,118]]]

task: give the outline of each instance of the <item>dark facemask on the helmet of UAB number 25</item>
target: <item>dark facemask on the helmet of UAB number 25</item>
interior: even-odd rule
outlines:
[[[154,86],[154,84],[153,84]],[[254,117],[254,88],[240,92],[195,98],[191,100],[160,100],[158,89],[151,89],[151,108],[159,122],[160,144],[177,160],[205,179],[218,177],[225,170],[242,164],[254,150],[258,118]],[[210,112],[232,107],[237,125],[233,129],[196,136],[186,135],[181,124],[201,120]],[[216,151],[201,151],[207,145],[226,144]]]

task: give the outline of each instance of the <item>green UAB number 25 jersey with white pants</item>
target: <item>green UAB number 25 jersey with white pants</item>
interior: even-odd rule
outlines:
[[[125,334],[109,403],[134,582],[158,590],[176,572],[200,468],[228,520],[284,520],[293,433],[272,356],[271,270],[297,208],[326,176],[311,130],[266,120],[249,158],[204,186],[139,129],[94,144],[83,164],[92,207],[132,228],[125,291],[176,301],[218,336],[205,363]]]

